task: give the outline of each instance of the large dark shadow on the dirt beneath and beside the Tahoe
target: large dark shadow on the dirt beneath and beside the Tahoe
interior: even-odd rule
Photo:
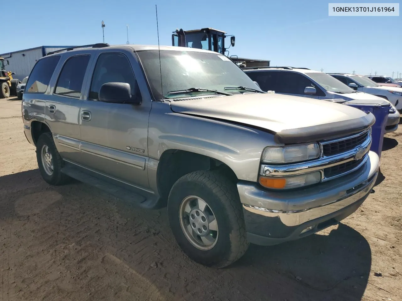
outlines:
[[[82,183],[51,187],[38,170],[0,177],[4,233],[8,220],[15,241],[4,242],[15,254],[16,279],[25,277],[39,290],[32,295],[21,286],[21,297],[49,295],[70,277],[70,290],[57,292],[63,300],[82,299],[88,292],[86,300],[357,301],[371,268],[368,242],[345,224],[329,235],[250,245],[231,266],[206,268],[178,248],[166,209],[138,209]],[[18,257],[18,245],[37,262],[47,262],[36,266],[35,277],[28,271],[32,264]],[[51,281],[49,273],[55,275]]]

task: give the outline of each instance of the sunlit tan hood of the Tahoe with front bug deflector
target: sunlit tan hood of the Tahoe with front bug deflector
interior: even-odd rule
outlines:
[[[278,143],[337,138],[371,126],[373,114],[333,102],[283,94],[233,96],[172,101],[173,112],[229,121],[275,135]]]

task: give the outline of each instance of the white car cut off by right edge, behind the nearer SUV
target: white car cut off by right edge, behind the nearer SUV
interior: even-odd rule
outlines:
[[[402,110],[402,87],[381,86],[371,79],[348,73],[328,73],[349,87],[388,100],[397,110]]]

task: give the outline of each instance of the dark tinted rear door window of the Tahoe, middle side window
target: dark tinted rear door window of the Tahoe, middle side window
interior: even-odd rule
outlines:
[[[70,57],[62,68],[57,79],[55,94],[80,98],[82,83],[90,55]]]

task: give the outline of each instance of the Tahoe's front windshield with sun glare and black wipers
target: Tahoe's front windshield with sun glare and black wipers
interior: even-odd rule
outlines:
[[[159,53],[157,50],[137,51],[152,94],[162,99],[160,84]],[[192,87],[213,89],[230,94],[249,92],[225,87],[250,87],[261,89],[237,65],[224,55],[196,51],[161,50],[163,98],[180,98],[206,95],[205,92],[183,92],[168,94],[170,91],[186,90]],[[183,95],[184,94],[184,95]],[[210,94],[215,94],[211,92]]]

